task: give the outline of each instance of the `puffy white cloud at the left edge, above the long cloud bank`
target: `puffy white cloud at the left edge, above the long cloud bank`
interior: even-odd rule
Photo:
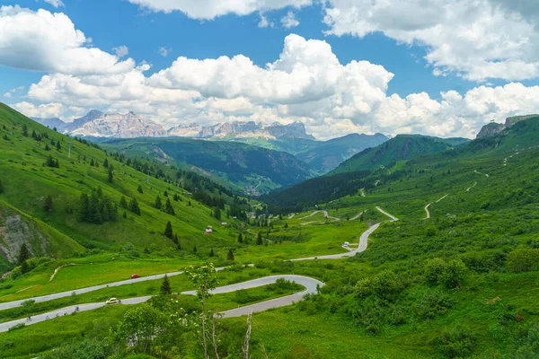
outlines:
[[[132,59],[88,48],[82,31],[64,13],[0,7],[0,66],[59,74],[119,74]]]

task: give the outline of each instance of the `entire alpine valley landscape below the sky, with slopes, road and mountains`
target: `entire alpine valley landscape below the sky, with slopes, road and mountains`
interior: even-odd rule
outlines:
[[[317,141],[0,105],[1,353],[195,358],[206,313],[211,357],[535,358],[539,116],[499,122]]]

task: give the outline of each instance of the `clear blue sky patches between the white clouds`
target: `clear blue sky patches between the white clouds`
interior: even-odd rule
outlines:
[[[294,29],[285,29],[279,23],[288,8],[267,15],[270,21],[276,23],[276,28],[261,29],[258,27],[258,13],[247,16],[229,14],[213,21],[201,22],[179,12],[148,12],[127,1],[64,0],[65,6],[61,8],[35,0],[4,3],[66,13],[77,29],[93,39],[93,46],[111,51],[114,47],[125,45],[131,57],[137,61],[146,60],[154,66],[151,72],[170,66],[172,58],[179,56],[213,58],[243,54],[256,65],[264,66],[275,61],[282,50],[283,39],[294,32],[306,39],[327,41],[341,63],[355,59],[384,66],[395,74],[389,93],[406,96],[413,92],[428,92],[431,97],[438,98],[442,91],[464,92],[475,86],[475,83],[457,76],[434,76],[432,68],[423,59],[425,49],[419,46],[399,45],[394,39],[379,33],[367,35],[364,39],[324,35],[327,26],[321,19],[320,4],[297,11],[296,18],[300,24]],[[170,56],[160,56],[158,49],[161,47],[172,48]],[[2,68],[0,75],[2,78],[6,76],[7,81],[0,85],[0,92],[37,82],[42,74]]]

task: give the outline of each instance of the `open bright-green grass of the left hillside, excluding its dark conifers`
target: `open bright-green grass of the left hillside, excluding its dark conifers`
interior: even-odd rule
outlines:
[[[24,136],[24,128],[27,136]],[[73,143],[70,159],[68,142]],[[57,149],[58,143],[60,149]],[[52,162],[59,163],[59,168],[46,165],[49,156]],[[103,167],[105,160],[114,167],[112,182],[109,181],[108,169]],[[217,230],[211,239],[203,234],[208,225],[220,223],[212,216],[213,209],[192,199],[172,181],[167,183],[153,177],[146,183],[144,173],[107,156],[92,144],[60,135],[4,105],[0,105],[0,180],[4,188],[0,201],[36,223],[32,224],[35,228],[45,228],[39,232],[46,239],[46,250],[40,250],[32,243],[31,234],[22,240],[40,255],[67,257],[84,248],[118,250],[127,243],[138,249],[151,245],[163,249],[176,248],[173,241],[163,236],[169,221],[184,248],[233,240],[228,231]],[[102,198],[109,197],[112,206],[119,208],[117,218],[102,224],[83,222],[79,219],[81,195],[91,196],[98,188],[101,188]],[[164,196],[165,191],[168,198]],[[177,200],[173,199],[174,195]],[[49,212],[44,208],[48,196],[52,199]],[[136,198],[141,215],[122,208],[122,196],[127,202]],[[157,196],[161,197],[163,206],[167,199],[172,201],[175,215],[155,208]]]

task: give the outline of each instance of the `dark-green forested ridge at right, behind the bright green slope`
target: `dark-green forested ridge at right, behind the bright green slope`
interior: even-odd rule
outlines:
[[[539,147],[539,117],[526,118],[526,120],[521,120],[505,128],[498,134],[477,138],[455,147],[443,141],[447,140],[428,136],[396,136],[385,144],[358,153],[349,162],[340,166],[338,170],[342,172],[333,171],[326,176],[307,180],[261,199],[267,202],[273,211],[280,213],[299,212],[307,207],[329,203],[340,197],[368,195],[376,192],[376,188],[386,183],[391,183],[394,180],[411,180],[416,175],[432,171],[426,169],[434,169],[442,165],[447,167],[447,171],[452,171],[464,163],[484,158],[507,163],[517,153]],[[449,141],[452,144],[463,142],[458,139],[450,139]],[[372,162],[368,162],[376,155],[382,161],[382,159],[391,157],[391,154],[399,153],[405,149],[408,151],[405,156],[408,161],[395,162],[392,160],[392,162],[384,162],[388,163],[384,167],[374,169],[370,164]],[[431,153],[424,154],[425,151]],[[364,167],[358,166],[359,162],[364,163],[364,166],[367,169],[371,168],[371,170],[358,171]],[[422,163],[423,169],[415,169],[414,166],[417,163]],[[411,170],[412,168],[414,170]],[[348,169],[350,171],[344,171]],[[480,171],[479,165],[476,170]],[[414,173],[414,171],[419,172]],[[431,180],[436,179],[432,177]],[[458,183],[452,185],[458,185]],[[465,188],[468,183],[460,185]]]

